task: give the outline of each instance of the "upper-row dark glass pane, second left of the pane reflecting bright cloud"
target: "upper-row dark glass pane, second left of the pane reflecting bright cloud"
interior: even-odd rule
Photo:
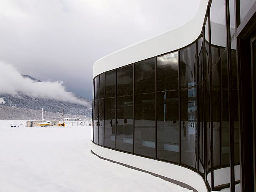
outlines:
[[[117,69],[117,96],[133,94],[133,64]]]

